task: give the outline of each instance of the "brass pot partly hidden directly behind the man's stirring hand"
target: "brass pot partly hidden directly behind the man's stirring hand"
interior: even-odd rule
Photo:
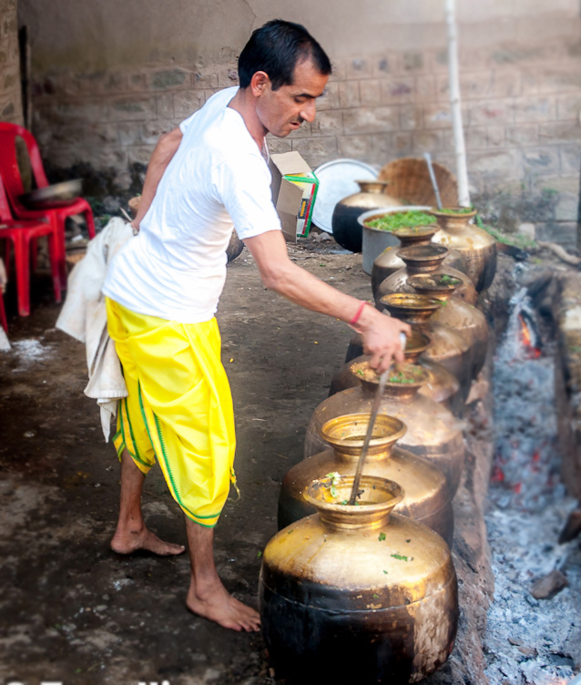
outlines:
[[[442,404],[454,416],[460,417],[464,414],[464,398],[460,392],[460,383],[458,383],[458,380],[452,373],[444,369],[442,364],[425,358],[423,353],[431,344],[432,340],[427,333],[412,331],[407,337],[405,350],[403,351],[405,361],[407,363],[420,364],[430,374],[430,380],[420,388],[419,393],[433,399],[438,404]],[[351,353],[356,351],[359,352],[359,355],[351,356]],[[368,362],[371,359],[369,356],[362,355],[362,352],[362,336],[360,333],[355,333],[350,342],[345,363],[331,380],[329,396],[340,393],[341,390],[361,385],[359,377],[352,373],[351,367],[353,362]]]

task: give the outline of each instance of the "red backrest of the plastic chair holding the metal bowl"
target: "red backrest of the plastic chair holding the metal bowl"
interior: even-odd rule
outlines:
[[[35,137],[21,126],[0,121],[0,174],[4,179],[5,191],[13,203],[25,191],[16,157],[16,138],[25,141],[36,187],[45,188],[48,185]]]

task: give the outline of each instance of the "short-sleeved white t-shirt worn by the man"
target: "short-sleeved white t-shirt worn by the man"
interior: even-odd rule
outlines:
[[[241,240],[280,230],[270,169],[239,112],[219,91],[183,121],[178,151],[139,226],[113,259],[103,292],[133,312],[209,321],[226,280],[232,229]]]

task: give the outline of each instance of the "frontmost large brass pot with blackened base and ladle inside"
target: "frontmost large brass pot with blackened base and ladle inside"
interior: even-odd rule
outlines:
[[[274,536],[260,569],[262,634],[277,676],[301,685],[403,685],[454,649],[458,587],[433,530],[392,513],[402,488],[362,476],[360,506],[341,502],[353,478],[315,481],[318,513]]]

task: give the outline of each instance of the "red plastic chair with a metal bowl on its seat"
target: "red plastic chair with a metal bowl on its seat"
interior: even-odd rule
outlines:
[[[46,210],[27,210],[25,206],[18,200],[18,196],[25,191],[22,178],[20,176],[20,169],[18,169],[18,161],[16,158],[16,138],[22,138],[25,141],[32,166],[32,172],[35,177],[37,188],[46,188],[48,181],[46,180],[46,173],[43,167],[42,159],[40,158],[40,151],[35,137],[30,131],[16,126],[16,124],[9,124],[5,121],[0,122],[0,176],[4,179],[6,194],[10,199],[12,210],[15,219],[47,219],[53,222],[56,226],[58,236],[58,269],[60,274],[61,288],[66,289],[66,251],[65,251],[65,220],[66,217],[74,216],[75,214],[84,214],[87,221],[87,230],[89,238],[95,238],[95,221],[93,220],[93,211],[86,199],[78,198],[71,202],[66,207],[56,207],[54,209]],[[36,258],[36,250],[33,259]]]

